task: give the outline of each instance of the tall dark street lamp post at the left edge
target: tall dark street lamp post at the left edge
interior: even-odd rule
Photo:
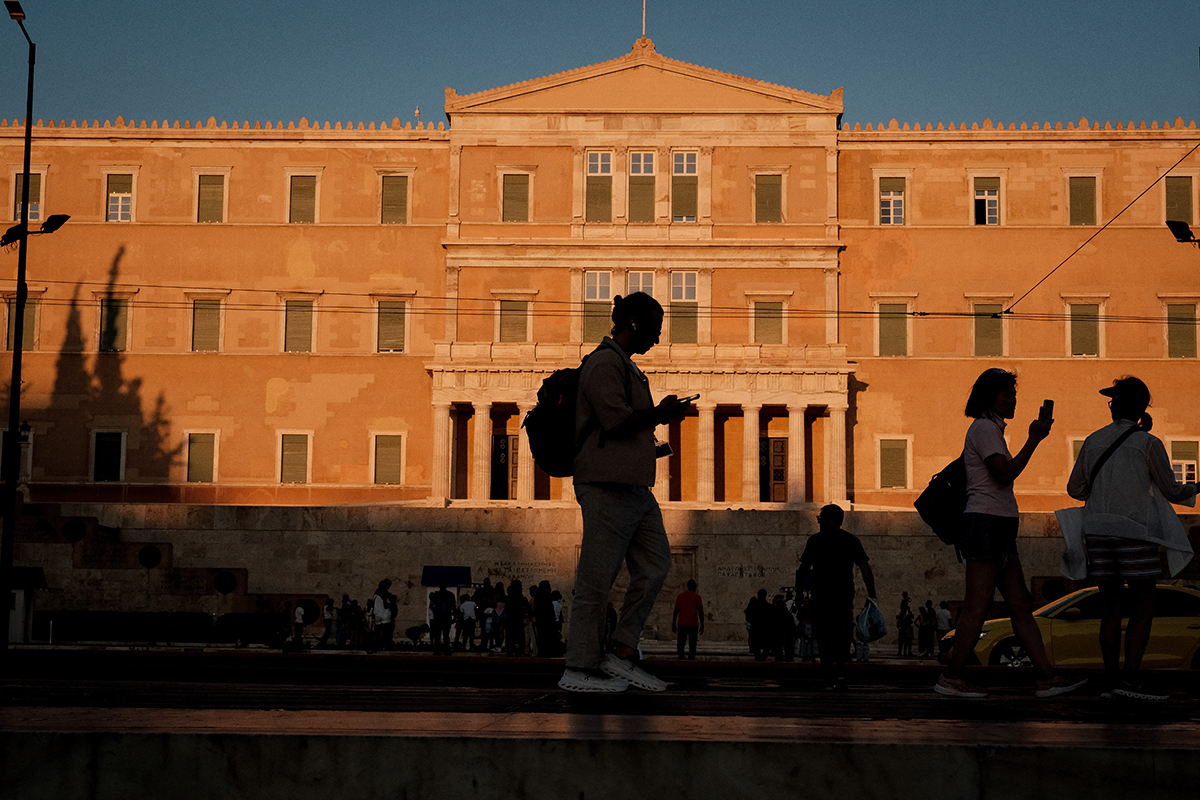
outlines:
[[[25,347],[25,297],[29,287],[25,285],[25,258],[29,245],[29,158],[34,136],[34,56],[37,46],[25,30],[25,12],[16,0],[5,0],[8,16],[20,25],[20,32],[29,42],[29,90],[25,95],[25,164],[22,172],[20,222],[5,233],[0,243],[17,242],[17,297],[12,308],[12,379],[8,390],[8,433],[4,440],[4,536],[0,539],[0,609],[4,613],[4,634],[0,636],[0,675],[7,672],[8,627],[11,615],[8,604],[12,602],[12,555],[13,540],[17,535],[17,483],[20,473],[20,355]],[[65,222],[65,219],[62,221]],[[62,223],[59,222],[59,225]],[[58,225],[55,225],[56,228]],[[47,231],[49,233],[49,231]]]

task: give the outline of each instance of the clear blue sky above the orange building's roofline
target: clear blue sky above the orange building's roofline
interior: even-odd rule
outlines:
[[[641,0],[23,0],[34,116],[444,120],[460,94],[628,53]],[[1132,11],[1138,7],[1136,11]],[[648,0],[659,53],[846,90],[845,121],[1200,118],[1200,2]],[[0,116],[28,49],[0,19]]]

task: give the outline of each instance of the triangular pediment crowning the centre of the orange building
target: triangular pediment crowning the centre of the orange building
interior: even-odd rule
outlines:
[[[458,96],[446,89],[446,114],[463,113],[810,113],[840,114],[841,90],[812,95],[659,55],[646,38],[612,61]]]

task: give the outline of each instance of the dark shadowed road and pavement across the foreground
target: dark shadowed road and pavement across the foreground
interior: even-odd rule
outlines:
[[[649,661],[667,692],[574,696],[562,662],[268,651],[18,650],[0,798],[1200,796],[1200,676],[1162,704],[1098,687],[985,700],[932,664]]]

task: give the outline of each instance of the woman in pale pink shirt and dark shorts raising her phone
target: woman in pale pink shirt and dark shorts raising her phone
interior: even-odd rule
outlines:
[[[1013,456],[1004,443],[1007,420],[1016,413],[1016,374],[992,367],[971,387],[966,415],[974,417],[962,445],[967,470],[967,505],[962,515],[959,552],[966,561],[966,599],[954,632],[954,650],[934,690],[952,697],[988,697],[988,692],[964,680],[967,658],[979,640],[984,616],[996,589],[1008,602],[1013,631],[1025,645],[1037,673],[1037,697],[1054,697],[1087,682],[1055,673],[1046,657],[1042,632],[1033,620],[1033,599],[1026,585],[1016,552],[1020,517],[1013,481],[1025,470],[1054,425],[1054,405],[1046,401],[1030,422],[1028,438]]]

